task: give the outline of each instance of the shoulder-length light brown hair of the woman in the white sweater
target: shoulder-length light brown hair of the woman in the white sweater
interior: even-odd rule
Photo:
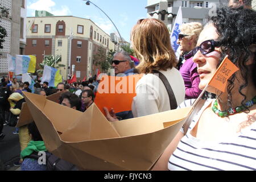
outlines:
[[[134,52],[140,60],[136,67],[140,73],[152,73],[175,67],[176,57],[171,47],[166,25],[155,18],[138,20],[131,31]]]

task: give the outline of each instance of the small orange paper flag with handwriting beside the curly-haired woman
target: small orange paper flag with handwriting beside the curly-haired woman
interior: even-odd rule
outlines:
[[[225,92],[226,84],[228,79],[239,69],[234,65],[229,59],[228,56],[224,58],[220,67],[214,73],[212,79],[208,85],[213,86],[214,88]]]

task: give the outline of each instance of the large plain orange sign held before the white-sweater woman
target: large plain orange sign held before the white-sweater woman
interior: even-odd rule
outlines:
[[[102,76],[94,103],[104,114],[103,107],[113,107],[115,113],[131,110],[133,97],[136,96],[135,87],[142,76]]]

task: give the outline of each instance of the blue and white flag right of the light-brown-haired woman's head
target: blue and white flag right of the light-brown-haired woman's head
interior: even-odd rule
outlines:
[[[182,24],[182,12],[181,12],[181,6],[180,6],[175,19],[174,26],[172,27],[172,32],[171,32],[171,45],[172,45],[172,49],[174,49],[177,59],[179,59],[180,57],[180,49],[179,49],[180,45],[177,44],[177,40],[179,38],[181,24]]]

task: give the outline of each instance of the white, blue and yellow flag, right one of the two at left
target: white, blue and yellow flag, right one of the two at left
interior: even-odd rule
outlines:
[[[42,82],[44,81],[47,81],[49,83],[49,86],[57,86],[57,84],[62,82],[62,76],[60,75],[60,71],[58,69],[44,65]]]

